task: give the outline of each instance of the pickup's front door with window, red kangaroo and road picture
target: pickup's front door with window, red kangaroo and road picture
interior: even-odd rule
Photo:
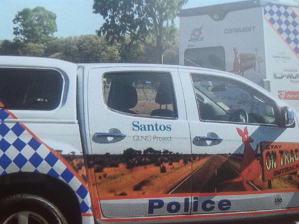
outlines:
[[[279,127],[276,99],[217,72],[181,70],[180,76],[189,100],[193,157],[192,178],[185,184],[192,185],[193,200],[202,203],[192,212],[295,206],[298,124]]]

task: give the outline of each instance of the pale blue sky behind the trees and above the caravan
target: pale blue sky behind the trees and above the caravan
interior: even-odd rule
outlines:
[[[235,1],[240,0],[189,0],[183,8]],[[14,38],[12,20],[18,11],[36,6],[56,14],[58,31],[54,35],[58,37],[94,34],[103,22],[101,15],[93,14],[93,0],[0,0],[0,40]],[[178,26],[178,18],[175,22]]]

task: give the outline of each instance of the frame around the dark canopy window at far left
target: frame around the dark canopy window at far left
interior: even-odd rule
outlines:
[[[0,70],[1,69],[23,69],[23,70],[51,70],[51,71],[55,71],[55,73],[57,75],[59,75],[59,78],[60,78],[60,91],[59,91],[59,97],[58,97],[58,100],[57,100],[57,103],[55,104],[54,107],[50,108],[50,109],[15,109],[15,108],[6,108],[5,105],[4,105],[4,109],[7,109],[7,110],[15,110],[15,111],[54,111],[56,110],[57,108],[59,108],[59,106],[61,105],[62,103],[62,100],[63,100],[63,91],[64,91],[64,86],[65,86],[65,80],[64,80],[64,75],[58,70],[58,69],[55,69],[55,68],[40,68],[40,67],[6,67],[6,66],[2,66],[0,67]]]

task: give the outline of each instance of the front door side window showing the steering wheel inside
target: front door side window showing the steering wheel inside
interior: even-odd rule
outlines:
[[[250,86],[222,77],[191,77],[202,120],[277,124],[275,103]]]

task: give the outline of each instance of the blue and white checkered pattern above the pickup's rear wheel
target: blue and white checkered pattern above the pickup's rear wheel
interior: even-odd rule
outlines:
[[[70,169],[44,144],[34,138],[19,122],[0,108],[0,175],[14,172],[39,172],[59,178],[74,189],[81,212],[91,213],[90,195]]]

